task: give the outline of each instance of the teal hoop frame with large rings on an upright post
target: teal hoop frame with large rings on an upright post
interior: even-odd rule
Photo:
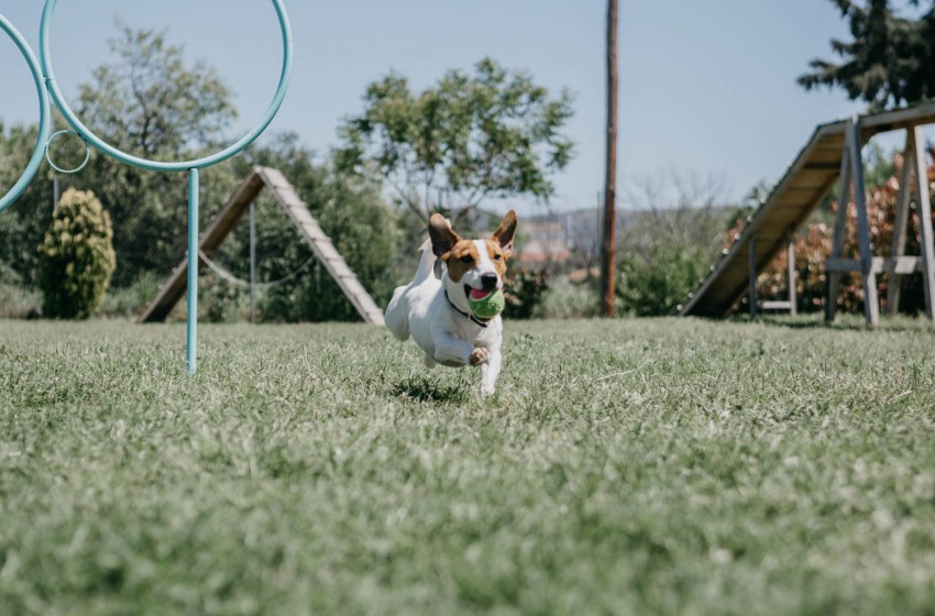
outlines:
[[[40,23],[40,59],[35,56],[26,44],[25,40],[13,28],[13,25],[0,14],[0,28],[3,29],[12,38],[16,46],[25,57],[33,74],[33,79],[36,84],[36,91],[40,98],[40,132],[36,140],[36,147],[26,166],[26,170],[20,177],[13,188],[0,198],[0,211],[6,209],[19,197],[26,186],[32,182],[33,177],[42,163],[43,151],[46,151],[50,143],[51,129],[51,102],[54,102],[65,120],[74,129],[75,133],[86,143],[91,144],[99,152],[120,161],[121,163],[140,167],[143,169],[156,172],[188,172],[188,306],[187,306],[187,328],[186,328],[186,369],[188,374],[195,374],[197,367],[197,346],[198,346],[198,194],[199,194],[199,169],[217,165],[227,161],[231,156],[238,154],[248,145],[253,143],[258,138],[283,105],[286,97],[286,90],[289,86],[289,77],[293,70],[293,32],[289,26],[289,19],[286,14],[286,9],[283,6],[283,0],[270,0],[273,3],[273,9],[276,11],[276,18],[279,22],[279,30],[283,35],[283,67],[279,73],[279,85],[276,87],[276,92],[273,96],[273,101],[266,108],[266,112],[260,120],[260,123],[250,132],[244,134],[238,141],[228,147],[217,152],[210,156],[195,158],[191,161],[179,162],[162,162],[140,158],[113,147],[105,142],[90,129],[88,129],[75,114],[74,111],[65,102],[65,97],[58,88],[55,80],[55,74],[52,69],[52,51],[51,51],[51,31],[52,15],[55,13],[55,7],[58,0],[45,0],[45,8],[42,11],[42,22]],[[43,84],[44,81],[44,84]],[[58,134],[58,133],[56,133]],[[89,154],[90,152],[88,152]],[[50,164],[52,162],[50,161]],[[82,164],[84,166],[84,164]]]

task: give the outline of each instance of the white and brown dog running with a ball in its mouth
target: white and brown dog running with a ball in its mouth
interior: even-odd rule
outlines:
[[[510,210],[488,240],[462,240],[441,215],[429,219],[429,241],[415,279],[397,287],[386,308],[386,327],[399,340],[411,337],[426,365],[481,366],[481,393],[491,395],[501,372],[503,320],[480,319],[468,297],[503,290],[513,252],[516,212]],[[429,250],[431,243],[431,250]],[[436,271],[436,261],[442,264]]]

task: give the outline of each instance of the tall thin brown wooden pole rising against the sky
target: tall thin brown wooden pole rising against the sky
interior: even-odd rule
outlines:
[[[617,194],[617,0],[607,0],[607,160],[604,184],[604,243],[601,251],[601,312],[614,316]]]

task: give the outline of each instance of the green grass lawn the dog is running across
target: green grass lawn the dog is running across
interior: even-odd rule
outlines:
[[[935,330],[0,321],[0,614],[933,614]]]

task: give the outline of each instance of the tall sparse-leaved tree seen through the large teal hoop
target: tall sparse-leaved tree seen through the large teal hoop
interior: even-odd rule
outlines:
[[[183,160],[216,148],[237,118],[217,72],[201,61],[186,63],[184,48],[163,32],[118,28],[109,42],[117,61],[94,69],[80,86],[82,121],[108,143],[146,158]],[[175,265],[185,250],[184,174],[147,172],[95,153],[75,179],[94,187],[113,218],[117,285]],[[226,199],[230,185],[220,174],[202,174],[202,200]]]

